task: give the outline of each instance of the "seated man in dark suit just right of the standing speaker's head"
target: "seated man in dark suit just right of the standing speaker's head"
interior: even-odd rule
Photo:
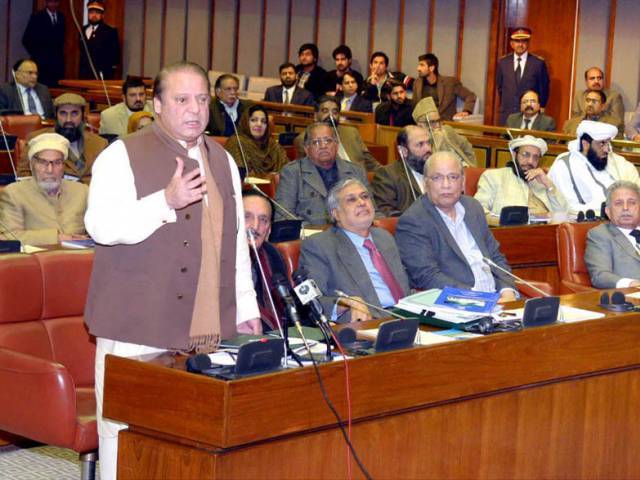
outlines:
[[[230,137],[235,134],[242,113],[253,105],[249,100],[239,99],[239,91],[238,77],[230,73],[218,77],[214,85],[216,95],[209,105],[209,124],[207,125],[209,135]]]

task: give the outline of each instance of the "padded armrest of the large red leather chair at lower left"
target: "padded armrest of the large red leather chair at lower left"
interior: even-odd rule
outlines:
[[[60,447],[73,445],[75,383],[59,363],[0,347],[0,430]]]

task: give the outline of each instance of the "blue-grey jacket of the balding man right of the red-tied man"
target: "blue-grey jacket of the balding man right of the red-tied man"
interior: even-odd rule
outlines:
[[[480,202],[463,195],[464,222],[485,257],[509,269],[500,245],[487,226]],[[396,241],[411,286],[430,289],[445,286],[470,289],[475,283],[473,272],[447,225],[426,195],[420,197],[400,217]],[[494,271],[496,289],[514,288],[510,278]]]

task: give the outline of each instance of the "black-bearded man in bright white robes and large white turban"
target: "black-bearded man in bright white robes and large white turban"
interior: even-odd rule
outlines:
[[[618,134],[613,125],[583,120],[569,151],[558,155],[549,177],[569,203],[569,212],[600,212],[606,190],[616,180],[639,183],[638,170],[611,150],[611,140]]]

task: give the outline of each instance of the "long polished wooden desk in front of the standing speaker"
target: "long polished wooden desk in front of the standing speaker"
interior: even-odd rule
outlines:
[[[164,360],[107,357],[105,416],[129,424],[119,479],[347,476],[311,367],[225,382]],[[320,370],[346,419],[344,365]],[[640,477],[636,313],[357,358],[349,375],[373,478]]]

